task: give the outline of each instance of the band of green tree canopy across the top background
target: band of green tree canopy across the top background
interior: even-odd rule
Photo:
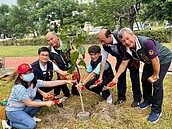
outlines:
[[[133,9],[136,7],[133,0],[96,0],[89,4],[75,1],[17,0],[17,5],[11,7],[3,4],[0,6],[0,33],[23,37],[37,31],[44,35],[49,30],[57,32],[66,26],[83,27],[85,22],[113,30],[121,20],[124,26],[130,26],[131,18],[135,17],[142,21],[172,22],[171,0],[137,0],[141,9],[133,17],[131,14],[135,13]]]

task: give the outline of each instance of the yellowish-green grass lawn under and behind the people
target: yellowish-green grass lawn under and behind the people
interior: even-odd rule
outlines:
[[[172,50],[171,43],[164,44]],[[0,56],[18,57],[18,56],[36,56],[37,50],[41,46],[1,46]],[[86,45],[86,50],[89,45]],[[4,50],[5,49],[5,50]],[[7,51],[9,50],[9,51]],[[15,50],[15,51],[14,51]],[[84,69],[81,69],[81,75],[84,75]],[[71,76],[68,76],[70,78]],[[55,77],[54,77],[55,79]],[[64,108],[57,106],[44,107],[37,117],[42,121],[37,123],[36,129],[170,129],[172,127],[172,76],[166,76],[164,79],[164,100],[163,110],[160,120],[155,123],[147,122],[147,117],[151,108],[140,110],[131,108],[133,93],[129,73],[127,73],[127,101],[115,106],[107,104],[99,95],[88,90],[82,92],[85,111],[90,112],[91,116],[86,121],[76,119],[76,114],[81,112],[81,103],[79,96],[71,95],[66,100]],[[14,80],[0,80],[0,101],[7,100]],[[69,86],[71,89],[71,86]],[[117,87],[110,89],[113,101],[117,99]],[[63,94],[61,94],[63,95]],[[0,129],[1,129],[0,124]]]

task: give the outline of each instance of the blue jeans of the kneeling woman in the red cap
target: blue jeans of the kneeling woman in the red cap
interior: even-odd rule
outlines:
[[[41,100],[34,101],[40,102]],[[23,110],[6,111],[6,115],[12,127],[18,129],[34,129],[36,127],[36,122],[33,117],[41,108],[42,107],[26,106]]]

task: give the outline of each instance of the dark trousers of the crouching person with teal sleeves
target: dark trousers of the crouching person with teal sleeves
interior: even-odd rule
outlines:
[[[110,95],[110,91],[109,91],[109,90],[104,90],[104,91],[102,91],[102,89],[103,89],[103,87],[104,87],[105,85],[107,85],[109,82],[111,82],[112,79],[113,79],[113,78],[105,78],[105,79],[103,79],[103,83],[102,83],[102,84],[100,84],[100,85],[98,85],[98,86],[96,86],[96,87],[94,87],[94,88],[91,89],[90,86],[91,86],[91,85],[94,85],[94,84],[95,84],[95,81],[97,80],[96,78],[93,78],[92,80],[90,80],[89,82],[87,82],[87,83],[85,84],[85,87],[86,87],[88,90],[90,90],[90,91],[92,91],[92,92],[94,92],[94,93],[96,93],[96,94],[98,94],[98,95],[100,95],[100,92],[102,92],[102,97],[103,97],[104,99],[107,99],[107,98],[109,97],[109,95]]]

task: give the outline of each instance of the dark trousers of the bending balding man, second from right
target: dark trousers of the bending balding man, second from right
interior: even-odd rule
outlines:
[[[118,71],[118,68],[122,62],[122,59],[117,58],[117,63],[115,70]],[[134,101],[140,101],[142,98],[140,90],[140,80],[139,80],[139,69],[136,69],[135,66],[131,66],[132,60],[130,60],[127,68],[130,70],[130,78],[132,82],[132,91]],[[126,99],[126,70],[118,78],[117,90],[118,90],[118,100]]]

